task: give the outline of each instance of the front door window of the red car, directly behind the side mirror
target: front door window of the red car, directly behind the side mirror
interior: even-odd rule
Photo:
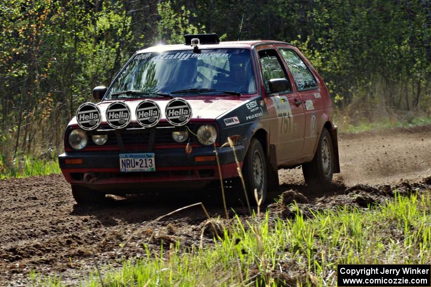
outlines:
[[[275,50],[270,49],[259,51],[259,60],[261,62],[263,80],[267,91],[269,91],[268,81],[270,79],[284,78],[289,80]],[[291,92],[291,90],[292,89],[289,89],[286,92]]]

